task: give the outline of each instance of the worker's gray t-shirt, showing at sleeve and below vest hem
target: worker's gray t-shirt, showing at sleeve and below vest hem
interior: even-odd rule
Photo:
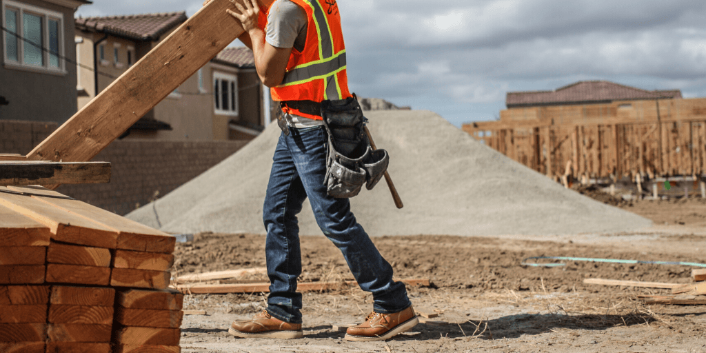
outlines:
[[[306,29],[309,20],[304,8],[289,0],[277,0],[270,7],[265,28],[265,40],[273,47],[304,50]],[[323,125],[323,121],[309,119],[296,114],[285,114],[287,125],[295,128],[307,128]]]

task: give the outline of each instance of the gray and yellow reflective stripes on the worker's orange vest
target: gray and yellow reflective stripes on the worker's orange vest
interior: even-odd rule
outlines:
[[[313,80],[323,80],[325,87],[323,92],[324,100],[345,99],[345,97],[342,97],[342,90],[337,78],[337,73],[340,73],[346,68],[345,49],[338,53],[333,52],[333,35],[331,35],[328,20],[324,9],[321,7],[321,3],[318,0],[299,1],[311,8],[311,19],[316,25],[318,35],[318,54],[321,59],[310,61],[289,69],[289,71],[285,73],[284,80],[282,80],[282,83],[277,87],[301,85],[304,83],[309,83]]]

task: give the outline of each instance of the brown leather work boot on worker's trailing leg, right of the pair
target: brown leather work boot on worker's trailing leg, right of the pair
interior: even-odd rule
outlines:
[[[349,341],[384,341],[399,333],[411,330],[419,323],[412,306],[397,313],[372,312],[364,323],[346,330]]]

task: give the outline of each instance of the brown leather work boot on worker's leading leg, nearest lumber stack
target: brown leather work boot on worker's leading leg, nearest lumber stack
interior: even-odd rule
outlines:
[[[273,318],[265,310],[253,316],[251,320],[237,320],[230,325],[228,332],[244,338],[301,338],[301,323],[286,323]]]

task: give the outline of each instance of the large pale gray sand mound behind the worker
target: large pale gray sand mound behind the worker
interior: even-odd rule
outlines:
[[[377,235],[549,235],[622,232],[651,225],[633,213],[564,189],[481,145],[432,112],[366,112],[405,208],[384,181],[352,198]],[[262,206],[280,130],[270,125],[237,153],[127,217],[165,232],[264,233]],[[307,203],[300,233],[322,234]]]

